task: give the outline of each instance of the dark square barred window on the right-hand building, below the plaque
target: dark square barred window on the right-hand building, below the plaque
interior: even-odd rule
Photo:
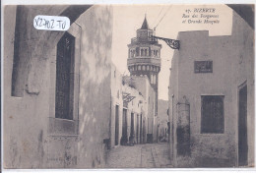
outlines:
[[[201,96],[201,133],[224,133],[224,95]]]

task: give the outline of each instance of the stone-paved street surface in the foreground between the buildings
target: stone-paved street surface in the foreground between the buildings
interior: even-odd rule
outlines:
[[[136,144],[111,148],[107,168],[169,168],[168,144]]]

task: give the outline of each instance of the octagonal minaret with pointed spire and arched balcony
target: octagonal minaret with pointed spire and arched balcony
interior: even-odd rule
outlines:
[[[156,114],[158,112],[158,87],[160,73],[160,48],[155,30],[150,29],[145,16],[141,29],[137,29],[137,36],[128,44],[128,70],[131,76],[147,76],[151,86],[156,91]],[[156,115],[157,116],[157,115]]]

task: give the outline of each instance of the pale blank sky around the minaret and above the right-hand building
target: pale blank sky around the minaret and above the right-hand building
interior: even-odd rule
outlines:
[[[195,8],[215,8],[214,13],[204,15],[219,15],[219,24],[188,24],[183,14],[193,13]],[[190,10],[189,13],[186,13]],[[209,30],[210,36],[230,35],[232,25],[232,10],[225,5],[114,5],[113,6],[113,39],[112,61],[121,74],[129,75],[127,69],[128,47],[132,37],[136,37],[136,30],[140,29],[145,15],[151,29],[156,28],[156,35],[176,39],[179,31]],[[199,19],[199,18],[198,18]],[[186,21],[186,24],[182,22]],[[205,19],[201,19],[205,20]],[[212,19],[210,19],[212,20]],[[213,20],[216,20],[213,19]],[[173,49],[164,41],[159,41],[161,48],[161,69],[159,74],[159,99],[168,99],[169,68]],[[181,43],[182,44],[182,43]]]

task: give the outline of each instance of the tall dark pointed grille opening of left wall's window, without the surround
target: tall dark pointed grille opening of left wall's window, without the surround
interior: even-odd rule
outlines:
[[[75,37],[66,32],[57,44],[55,117],[73,119]]]

